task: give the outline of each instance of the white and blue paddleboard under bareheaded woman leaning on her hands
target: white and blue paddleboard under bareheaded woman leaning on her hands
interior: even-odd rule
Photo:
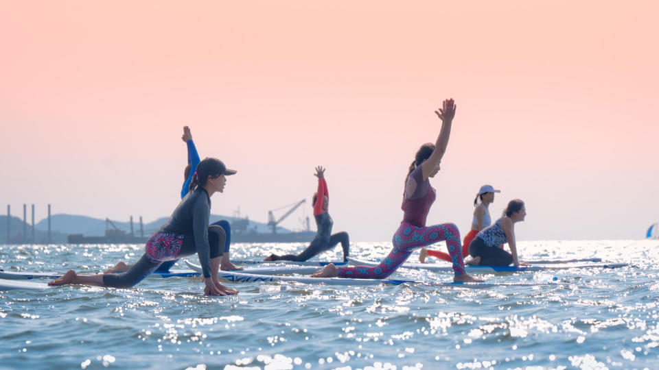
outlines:
[[[357,266],[377,266],[379,262],[359,260],[348,257],[351,264]],[[591,263],[591,264],[532,264],[531,266],[467,266],[467,273],[498,273],[498,272],[522,272],[522,271],[546,271],[566,269],[616,269],[625,267],[627,263]],[[404,263],[401,267],[405,269],[417,269],[428,271],[453,271],[447,264],[437,263]]]

